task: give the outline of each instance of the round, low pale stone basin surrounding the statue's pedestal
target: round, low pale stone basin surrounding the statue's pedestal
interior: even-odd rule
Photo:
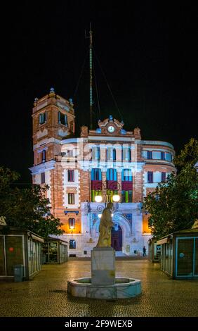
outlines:
[[[132,278],[115,278],[113,285],[93,285],[91,278],[67,282],[67,292],[72,296],[92,299],[126,299],[141,294],[141,282]]]

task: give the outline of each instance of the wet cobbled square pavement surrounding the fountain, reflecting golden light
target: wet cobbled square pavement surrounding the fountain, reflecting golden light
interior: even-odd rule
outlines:
[[[68,296],[67,280],[90,276],[90,261],[43,266],[34,280],[0,282],[0,316],[198,316],[198,280],[169,280],[158,263],[116,261],[118,277],[142,281],[136,298],[107,301]]]

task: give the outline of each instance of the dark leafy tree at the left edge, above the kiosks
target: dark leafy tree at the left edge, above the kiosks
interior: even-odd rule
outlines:
[[[41,237],[62,235],[60,219],[51,213],[47,186],[31,185],[28,188],[13,186],[20,175],[0,168],[0,216],[6,217],[8,226],[31,230]]]

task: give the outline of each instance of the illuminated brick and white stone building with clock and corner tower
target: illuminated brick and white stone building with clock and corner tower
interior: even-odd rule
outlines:
[[[169,173],[175,172],[173,146],[141,139],[140,129],[124,130],[124,123],[109,118],[96,130],[81,127],[74,137],[72,100],[54,90],[35,99],[32,113],[35,184],[49,186],[51,211],[63,223],[69,254],[90,256],[98,242],[100,213],[112,194],[114,204],[112,246],[117,254],[142,254],[150,239],[143,197]],[[103,201],[95,202],[102,193]]]

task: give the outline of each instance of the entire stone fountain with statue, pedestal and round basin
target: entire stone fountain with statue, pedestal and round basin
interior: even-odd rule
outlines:
[[[141,282],[115,277],[115,251],[111,247],[112,203],[107,204],[100,220],[98,244],[91,251],[91,278],[67,282],[72,296],[95,299],[126,299],[141,293]]]

